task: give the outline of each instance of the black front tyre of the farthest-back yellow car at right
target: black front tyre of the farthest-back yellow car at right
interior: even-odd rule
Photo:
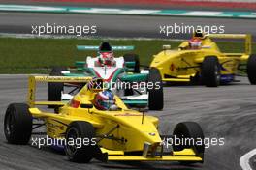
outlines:
[[[220,84],[220,65],[216,56],[205,57],[202,68],[202,81],[207,87],[217,87]]]

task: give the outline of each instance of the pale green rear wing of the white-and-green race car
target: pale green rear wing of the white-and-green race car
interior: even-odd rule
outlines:
[[[99,50],[99,46],[93,46],[93,45],[77,45],[77,49],[79,51],[95,51]],[[134,46],[112,46],[112,50],[114,51],[132,51],[134,50]]]

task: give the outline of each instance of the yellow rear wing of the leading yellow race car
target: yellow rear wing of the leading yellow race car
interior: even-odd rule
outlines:
[[[91,77],[67,77],[67,76],[34,76],[28,78],[28,96],[27,101],[30,107],[35,105],[64,105],[62,101],[36,101],[37,82],[55,82],[55,83],[86,83]]]

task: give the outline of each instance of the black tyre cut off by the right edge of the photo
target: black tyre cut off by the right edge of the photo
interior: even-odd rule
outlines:
[[[251,84],[256,84],[256,55],[250,55],[247,61],[247,74]]]

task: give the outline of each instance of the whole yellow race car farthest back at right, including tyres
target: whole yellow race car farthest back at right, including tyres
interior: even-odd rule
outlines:
[[[211,39],[244,39],[245,52],[225,53]],[[235,81],[238,71],[247,73],[251,84],[256,84],[256,55],[251,54],[251,36],[245,34],[210,34],[196,32],[190,41],[178,49],[163,45],[164,50],[154,55],[150,68],[160,72],[164,82],[192,82],[216,87]],[[244,66],[247,66],[244,69]]]

